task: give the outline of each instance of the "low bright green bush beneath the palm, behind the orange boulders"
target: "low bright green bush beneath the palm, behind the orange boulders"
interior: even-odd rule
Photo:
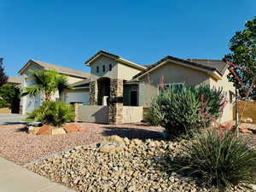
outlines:
[[[43,124],[61,126],[74,118],[73,108],[65,102],[44,102],[32,113],[28,113],[27,119],[35,119]]]

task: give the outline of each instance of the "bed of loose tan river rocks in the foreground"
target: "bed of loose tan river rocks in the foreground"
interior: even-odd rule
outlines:
[[[181,153],[180,143],[128,138],[123,142],[123,150],[102,153],[99,145],[76,147],[26,167],[83,192],[209,191],[195,178],[168,172],[169,158]]]

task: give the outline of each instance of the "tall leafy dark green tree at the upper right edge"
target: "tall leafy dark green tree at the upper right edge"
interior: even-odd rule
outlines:
[[[256,94],[256,16],[248,20],[245,27],[230,39],[232,53],[224,56],[224,60],[236,64],[230,65],[228,78],[242,97],[246,97],[248,92],[249,96]]]

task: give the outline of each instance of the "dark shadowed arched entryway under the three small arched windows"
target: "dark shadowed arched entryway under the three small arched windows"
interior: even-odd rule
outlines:
[[[97,104],[108,105],[109,96],[110,96],[110,79],[109,78],[97,79],[97,85],[98,85]]]

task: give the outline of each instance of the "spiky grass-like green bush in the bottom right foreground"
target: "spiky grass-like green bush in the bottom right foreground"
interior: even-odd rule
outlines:
[[[200,177],[209,188],[226,191],[256,181],[256,150],[231,131],[197,133],[182,149],[177,171]]]

